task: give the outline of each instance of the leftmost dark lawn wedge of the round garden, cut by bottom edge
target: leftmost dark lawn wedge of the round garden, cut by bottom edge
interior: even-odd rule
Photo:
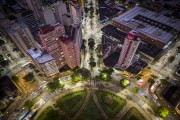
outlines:
[[[67,120],[67,118],[49,106],[38,116],[37,120]]]

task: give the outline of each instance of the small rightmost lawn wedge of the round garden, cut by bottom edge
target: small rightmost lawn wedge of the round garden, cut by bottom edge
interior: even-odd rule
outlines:
[[[122,120],[145,120],[144,116],[134,107],[123,116]]]

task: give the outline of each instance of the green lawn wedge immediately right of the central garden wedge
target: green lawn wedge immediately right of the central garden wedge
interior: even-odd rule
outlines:
[[[111,119],[114,118],[126,105],[126,100],[113,93],[96,91],[96,95],[101,107]],[[108,100],[107,96],[109,98]]]

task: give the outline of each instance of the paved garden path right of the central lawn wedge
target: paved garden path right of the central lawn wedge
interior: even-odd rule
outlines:
[[[101,111],[101,114],[104,116],[105,119],[109,119],[108,115],[104,112],[104,110],[102,109],[101,105],[99,104],[99,101],[98,101],[98,99],[97,99],[97,96],[96,96],[94,90],[92,91],[92,95],[93,95],[93,98],[94,98],[94,101],[95,101],[97,107],[98,107],[99,110]]]

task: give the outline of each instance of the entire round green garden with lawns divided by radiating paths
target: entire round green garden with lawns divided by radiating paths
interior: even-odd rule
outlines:
[[[40,113],[37,120],[111,120],[117,117],[126,104],[125,99],[111,92],[80,90],[58,98],[53,105],[49,105]],[[129,111],[123,119],[143,118],[135,108],[134,116]],[[127,117],[130,115],[132,117]]]

